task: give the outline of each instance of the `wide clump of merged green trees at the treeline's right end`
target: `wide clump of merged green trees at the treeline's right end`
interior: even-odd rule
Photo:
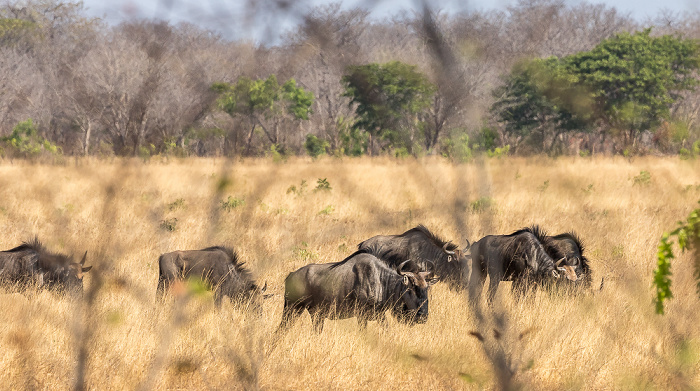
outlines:
[[[491,111],[506,133],[525,138],[594,128],[634,136],[655,129],[669,119],[678,92],[698,85],[700,46],[650,33],[621,33],[587,52],[519,63],[494,91]]]

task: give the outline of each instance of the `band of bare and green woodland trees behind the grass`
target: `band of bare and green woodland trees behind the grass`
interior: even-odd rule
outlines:
[[[274,46],[203,25],[0,6],[0,154],[700,155],[697,12],[331,4]]]

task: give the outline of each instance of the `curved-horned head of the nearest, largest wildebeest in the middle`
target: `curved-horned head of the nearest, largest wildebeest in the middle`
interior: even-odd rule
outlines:
[[[392,308],[394,317],[402,323],[425,323],[428,320],[428,288],[437,282],[432,266],[429,271],[415,271],[415,262],[407,260],[399,265],[398,273],[401,283],[398,290],[396,305]],[[411,271],[408,271],[411,270]]]

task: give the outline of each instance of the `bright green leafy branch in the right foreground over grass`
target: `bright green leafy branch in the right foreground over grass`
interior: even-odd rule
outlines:
[[[698,202],[700,203],[700,201]],[[664,313],[664,300],[673,297],[671,293],[671,259],[673,254],[673,237],[678,238],[678,246],[682,252],[690,249],[694,252],[694,274],[697,284],[697,292],[700,295],[700,208],[688,215],[687,221],[679,221],[678,227],[666,232],[661,237],[659,251],[657,253],[657,269],[654,271],[654,285],[656,286],[656,313]]]

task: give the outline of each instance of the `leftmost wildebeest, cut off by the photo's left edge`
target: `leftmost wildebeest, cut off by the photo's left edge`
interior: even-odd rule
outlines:
[[[7,251],[0,251],[0,284],[18,284],[59,291],[82,292],[83,277],[92,269],[85,267],[85,259],[73,262],[72,257],[52,253],[41,244],[39,238],[24,242]]]

